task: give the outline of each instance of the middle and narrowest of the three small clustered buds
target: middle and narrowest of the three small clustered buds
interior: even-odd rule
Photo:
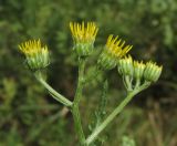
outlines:
[[[143,77],[145,64],[143,62],[134,61],[134,77],[140,80]]]

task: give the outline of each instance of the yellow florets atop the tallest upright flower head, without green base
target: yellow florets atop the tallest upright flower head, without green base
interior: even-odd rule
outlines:
[[[70,22],[70,29],[75,43],[94,42],[98,31],[98,28],[94,22],[87,22],[86,24],[84,22],[81,24],[76,22]]]

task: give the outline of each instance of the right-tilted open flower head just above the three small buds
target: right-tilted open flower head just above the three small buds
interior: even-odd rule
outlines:
[[[112,70],[116,66],[118,60],[132,49],[132,45],[124,46],[125,41],[122,42],[121,39],[117,39],[118,36],[113,38],[112,34],[108,36],[106,45],[97,60],[101,69]]]

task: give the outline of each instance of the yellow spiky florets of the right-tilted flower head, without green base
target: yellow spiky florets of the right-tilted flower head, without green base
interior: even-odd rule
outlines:
[[[124,56],[133,48],[133,45],[125,46],[125,41],[122,41],[121,39],[117,40],[117,39],[118,36],[113,38],[113,34],[111,34],[106,42],[106,49],[113,56],[116,56],[119,59]]]

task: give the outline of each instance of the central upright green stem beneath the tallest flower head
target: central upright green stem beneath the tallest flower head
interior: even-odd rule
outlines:
[[[77,133],[81,145],[85,145],[85,135],[82,128],[81,116],[79,111],[79,104],[82,97],[83,83],[84,83],[84,67],[85,67],[85,60],[79,59],[79,81],[77,81],[76,93],[75,93],[75,97],[72,106],[74,126],[75,126],[75,131]]]

